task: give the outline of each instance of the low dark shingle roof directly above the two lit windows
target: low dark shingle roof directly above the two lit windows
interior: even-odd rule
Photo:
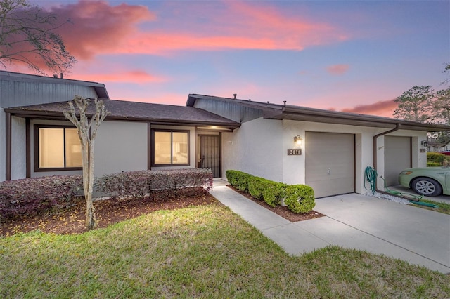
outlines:
[[[231,121],[203,109],[186,106],[152,104],[148,102],[129,102],[122,100],[102,99],[110,114],[107,119],[128,121],[150,121],[158,124],[210,125],[238,128],[236,121]],[[63,110],[69,109],[68,102],[54,102],[50,104],[12,107],[5,112],[22,117],[41,119],[63,119]],[[87,109],[87,114],[94,113],[94,101]]]

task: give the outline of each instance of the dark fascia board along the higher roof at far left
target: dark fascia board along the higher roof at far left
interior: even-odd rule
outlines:
[[[103,83],[82,81],[74,79],[62,79],[60,77],[46,77],[36,74],[23,74],[17,72],[0,71],[0,80],[4,81],[24,81],[24,82],[37,82],[37,83],[53,83],[53,84],[74,84],[82,86],[91,86],[96,91],[98,98],[109,99],[108,91]]]

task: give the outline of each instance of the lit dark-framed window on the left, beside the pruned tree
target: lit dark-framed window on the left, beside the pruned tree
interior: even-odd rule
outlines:
[[[76,128],[34,126],[35,171],[80,168],[82,151]]]

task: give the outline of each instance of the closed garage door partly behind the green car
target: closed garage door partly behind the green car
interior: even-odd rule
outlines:
[[[399,173],[411,167],[411,137],[385,136],[385,180],[399,185]]]

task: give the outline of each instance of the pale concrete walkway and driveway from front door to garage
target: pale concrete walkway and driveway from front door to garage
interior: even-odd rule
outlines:
[[[326,217],[290,222],[214,180],[210,192],[287,253],[338,245],[450,273],[450,215],[386,199],[345,194],[316,199]]]

